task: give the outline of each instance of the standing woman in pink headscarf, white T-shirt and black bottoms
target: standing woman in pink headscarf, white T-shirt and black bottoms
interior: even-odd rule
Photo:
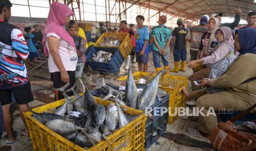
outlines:
[[[68,25],[70,16],[73,15],[68,5],[53,2],[43,32],[45,54],[48,57],[48,69],[51,73],[54,88],[61,88],[66,83],[69,87],[75,84],[75,68],[78,56],[75,43],[69,33],[63,28]],[[55,100],[64,98],[61,92],[56,91]]]

